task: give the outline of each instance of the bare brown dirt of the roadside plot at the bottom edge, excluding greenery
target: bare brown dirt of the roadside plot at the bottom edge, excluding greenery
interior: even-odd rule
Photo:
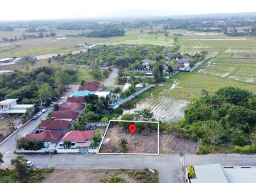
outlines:
[[[57,182],[76,182],[76,183],[98,183],[102,182],[100,179],[108,179],[113,176],[123,179],[125,182],[139,183],[141,180],[134,180],[136,172],[143,172],[145,170],[54,170],[49,177],[44,179],[44,183],[57,183]],[[148,172],[147,172],[148,173]],[[157,179],[158,173],[151,175],[152,178]]]

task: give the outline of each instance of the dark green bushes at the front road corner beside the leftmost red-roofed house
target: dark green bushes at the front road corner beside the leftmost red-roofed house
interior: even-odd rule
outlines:
[[[21,137],[17,140],[17,148],[24,150],[40,150],[44,147],[44,142],[42,141],[26,141],[25,138]]]

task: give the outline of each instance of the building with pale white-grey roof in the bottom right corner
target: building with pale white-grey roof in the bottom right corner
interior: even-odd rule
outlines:
[[[247,183],[255,182],[256,166],[221,166],[204,164],[193,166],[196,177],[190,183]]]

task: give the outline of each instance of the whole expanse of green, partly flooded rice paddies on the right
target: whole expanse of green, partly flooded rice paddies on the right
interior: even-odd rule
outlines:
[[[131,101],[134,108],[125,113],[148,108],[156,120],[177,122],[184,117],[184,108],[198,99],[203,89],[213,93],[225,86],[234,86],[256,93],[256,38],[187,32],[179,39],[183,54],[207,51],[210,59],[193,72],[180,72],[143,93]]]

